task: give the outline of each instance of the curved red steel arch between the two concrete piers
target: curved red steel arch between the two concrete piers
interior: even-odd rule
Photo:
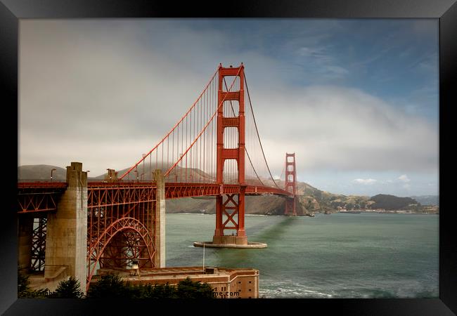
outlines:
[[[125,246],[127,246],[127,248],[134,247],[141,249],[137,252],[137,255],[143,256],[139,258],[140,267],[144,267],[146,265],[153,267],[155,256],[153,236],[140,220],[133,217],[119,218],[108,225],[108,227],[105,228],[100,235],[98,235],[98,238],[89,244],[86,290],[89,289],[91,279],[94,276],[97,265],[100,263],[106,249],[111,246],[111,243],[115,241],[117,237],[121,237],[122,235],[125,236],[125,234],[131,235],[132,233],[136,238],[130,239],[129,242],[131,243],[134,241],[136,244],[126,244]]]

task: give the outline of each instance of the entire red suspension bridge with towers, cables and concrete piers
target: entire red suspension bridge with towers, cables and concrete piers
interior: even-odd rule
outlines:
[[[219,65],[184,116],[121,176],[108,169],[104,181],[88,183],[82,164],[72,163],[65,183],[18,183],[19,263],[48,279],[70,267],[67,274],[80,280],[84,274],[86,288],[98,267],[134,261],[163,267],[165,199],[182,197],[215,197],[212,244],[247,245],[246,195],[281,195],[285,214],[297,215],[295,154],[285,154],[284,166],[280,187],[262,147],[244,65]]]

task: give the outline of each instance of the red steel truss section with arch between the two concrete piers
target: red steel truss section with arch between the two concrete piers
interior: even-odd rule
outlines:
[[[155,184],[89,183],[87,192],[87,286],[97,268],[154,267]]]

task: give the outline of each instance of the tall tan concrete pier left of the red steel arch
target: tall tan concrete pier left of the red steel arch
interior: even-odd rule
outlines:
[[[86,291],[87,256],[87,172],[81,162],[67,166],[67,190],[58,202],[58,211],[48,214],[44,279],[56,289],[67,277],[79,280]],[[85,293],[84,293],[85,294]]]

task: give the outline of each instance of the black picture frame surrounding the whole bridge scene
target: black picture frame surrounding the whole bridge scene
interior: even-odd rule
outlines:
[[[224,3],[228,6],[228,2]],[[0,68],[4,98],[3,135],[18,131],[18,21],[22,18],[436,18],[439,19],[439,298],[436,299],[276,299],[195,301],[122,301],[17,298],[17,220],[15,164],[18,144],[6,147],[0,255],[0,312],[4,315],[95,315],[158,312],[191,306],[188,312],[233,314],[247,308],[279,307],[285,312],[337,312],[340,315],[455,315],[457,313],[457,238],[454,229],[449,148],[451,109],[456,102],[457,4],[456,0],[245,0],[227,8],[217,3],[146,0],[0,0]],[[8,125],[9,123],[9,125]],[[11,126],[11,124],[13,126]],[[16,134],[17,136],[17,134]],[[12,138],[12,137],[11,137]],[[18,138],[16,137],[16,140]],[[4,140],[7,140],[4,138]],[[4,141],[4,143],[6,143]],[[6,150],[8,150],[6,152]],[[214,302],[217,301],[217,302]],[[195,310],[193,309],[195,308]]]

